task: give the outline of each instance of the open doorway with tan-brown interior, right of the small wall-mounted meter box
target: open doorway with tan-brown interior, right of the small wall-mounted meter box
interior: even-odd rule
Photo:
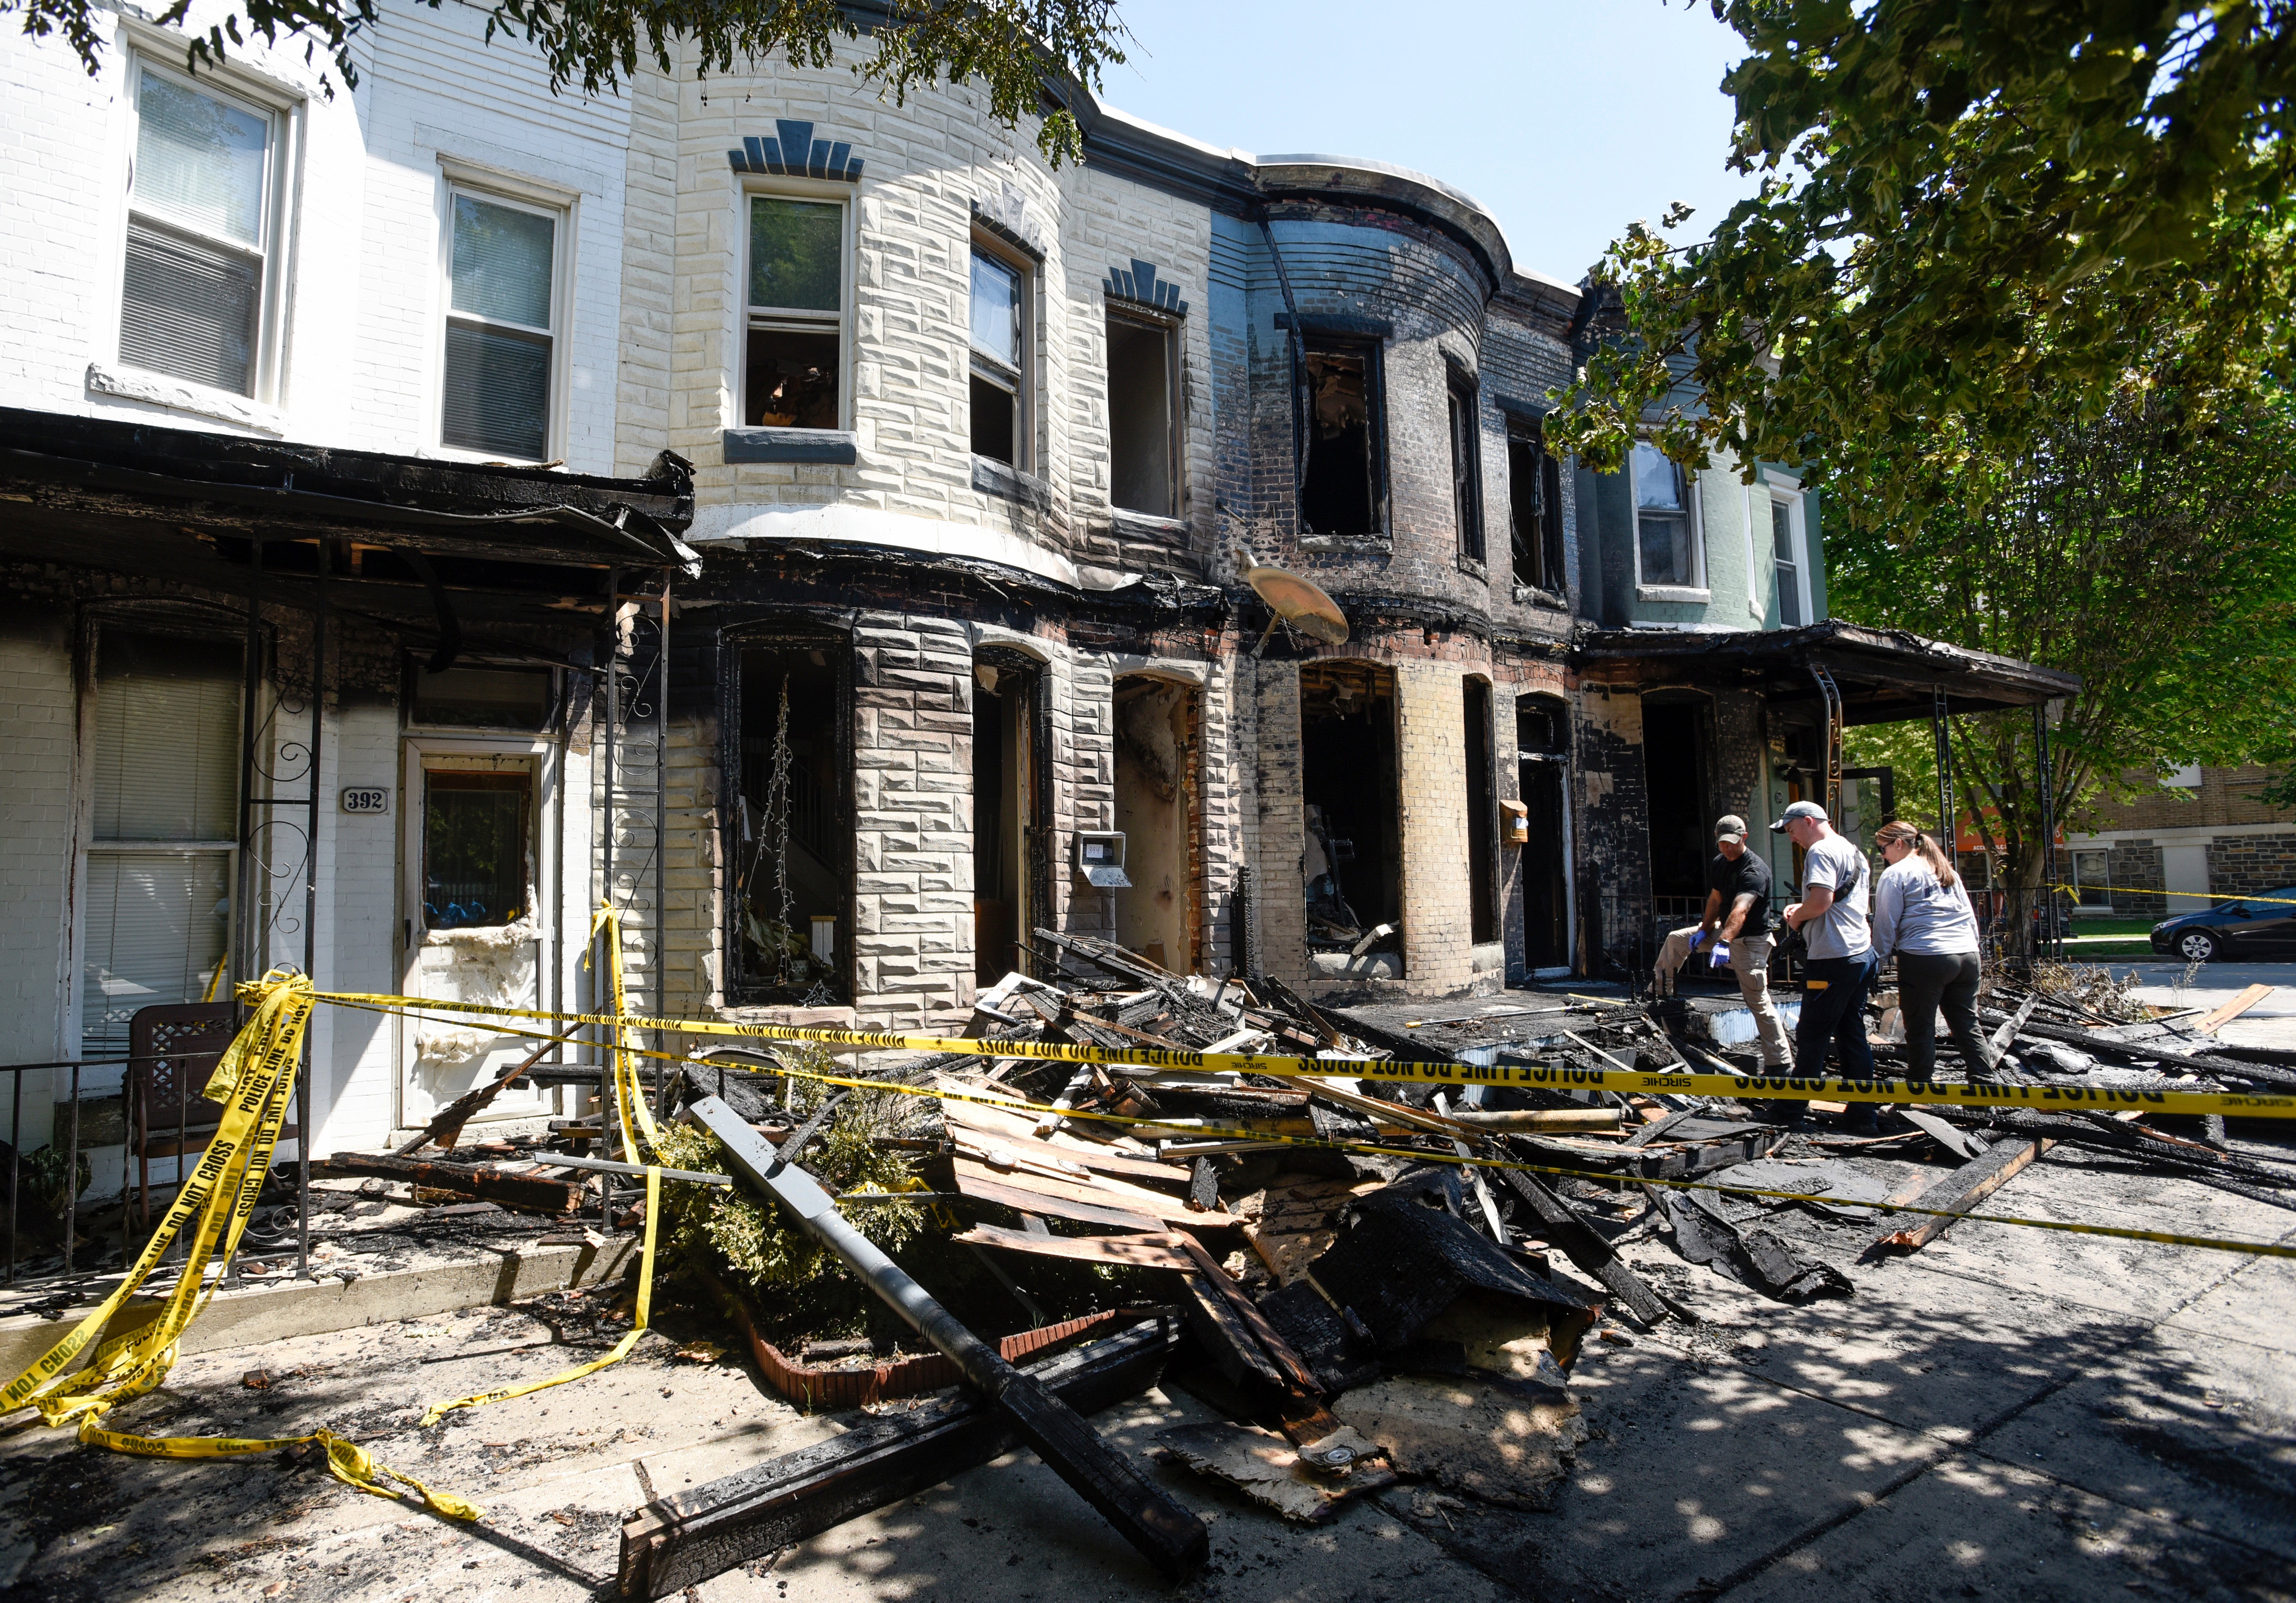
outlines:
[[[1116,827],[1125,877],[1116,939],[1176,974],[1201,969],[1196,884],[1196,691],[1153,677],[1116,680]]]

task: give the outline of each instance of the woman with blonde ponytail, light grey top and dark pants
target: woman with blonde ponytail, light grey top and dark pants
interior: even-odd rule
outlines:
[[[1929,1079],[1938,1063],[1938,1008],[1972,1077],[1986,1072],[1977,1036],[1977,912],[1938,843],[1908,822],[1874,834],[1890,864],[1874,884],[1874,951],[1896,955],[1896,999],[1906,1017],[1906,1075]]]

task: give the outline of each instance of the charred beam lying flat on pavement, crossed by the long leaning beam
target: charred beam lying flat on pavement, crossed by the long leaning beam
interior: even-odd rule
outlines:
[[[1155,1385],[1178,1337],[1178,1321],[1159,1316],[1065,1353],[1029,1371],[1029,1378],[1047,1396],[1088,1415]],[[1019,1440],[1013,1419],[974,1392],[863,1419],[829,1442],[650,1502],[622,1523],[618,1589],[625,1598],[666,1598],[937,1486]]]

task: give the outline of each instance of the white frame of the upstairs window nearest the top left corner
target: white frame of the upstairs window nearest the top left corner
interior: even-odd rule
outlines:
[[[122,37],[129,44],[124,62],[126,92],[122,94],[129,115],[126,138],[119,152],[119,216],[110,234],[110,294],[103,301],[106,312],[99,328],[99,356],[94,372],[90,372],[90,388],[264,427],[271,418],[262,413],[276,411],[285,404],[287,386],[287,308],[289,280],[294,276],[294,200],[296,170],[301,165],[303,96],[282,85],[257,78],[236,62],[220,62],[197,76],[186,73],[181,57],[188,48],[188,39],[135,23],[133,18],[122,18]],[[253,395],[218,390],[211,384],[200,384],[197,379],[186,379],[172,372],[158,372],[154,367],[138,367],[119,354],[119,335],[124,333],[122,315],[126,310],[129,227],[138,216],[135,145],[142,122],[142,85],[147,71],[195,94],[227,101],[253,117],[262,117],[269,126],[264,154],[264,220],[257,230],[262,289],[255,296]],[[161,227],[191,234],[204,243],[239,253],[246,250],[246,246],[236,239],[216,239],[156,211],[149,214],[149,218]],[[103,372],[106,367],[117,367],[117,374]]]

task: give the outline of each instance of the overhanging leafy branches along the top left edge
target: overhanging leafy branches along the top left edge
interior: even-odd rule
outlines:
[[[422,0],[439,9],[441,0]],[[172,0],[161,23],[174,28],[193,0]],[[980,80],[990,115],[1019,126],[1042,115],[1038,147],[1054,163],[1081,149],[1077,119],[1045,94],[1047,83],[1100,87],[1104,67],[1123,64],[1130,37],[1116,0],[882,0],[847,7],[838,0],[478,0],[487,39],[507,34],[533,44],[551,69],[551,92],[581,85],[604,94],[638,71],[641,53],[673,71],[680,39],[698,46],[703,76],[726,73],[737,60],[783,51],[792,62],[829,67],[840,44],[875,34],[877,53],[854,73],[895,101],[939,80]],[[23,11],[32,37],[62,32],[90,73],[103,55],[106,11],[96,0],[0,0],[0,16]],[[207,7],[202,7],[202,14]],[[278,44],[301,37],[305,55],[326,53],[351,87],[358,85],[354,44],[381,21],[377,0],[227,0],[220,16],[195,34],[191,62],[218,62],[248,39]]]

